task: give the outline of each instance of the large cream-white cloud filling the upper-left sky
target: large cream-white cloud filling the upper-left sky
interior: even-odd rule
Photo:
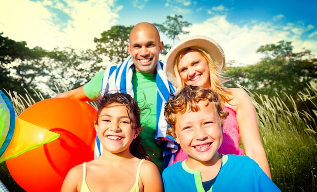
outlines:
[[[2,3],[0,28],[4,36],[14,41],[26,41],[28,47],[41,46],[52,50],[55,47],[94,48],[94,37],[116,23],[117,12],[122,7],[113,7],[113,0],[31,2],[13,0]],[[66,23],[55,24],[57,14],[49,8],[68,14]]]

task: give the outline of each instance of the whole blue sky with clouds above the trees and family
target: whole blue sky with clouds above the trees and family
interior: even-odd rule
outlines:
[[[292,42],[293,52],[317,56],[316,0],[0,0],[0,32],[29,48],[95,49],[94,38],[114,25],[163,23],[181,15],[190,35],[206,35],[223,48],[226,62],[255,64],[261,45]],[[161,33],[165,44],[173,41]],[[177,40],[175,43],[177,43]],[[161,57],[161,60],[164,56]]]

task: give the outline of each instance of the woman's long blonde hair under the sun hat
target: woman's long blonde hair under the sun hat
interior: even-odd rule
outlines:
[[[189,52],[197,52],[202,55],[207,60],[209,73],[210,73],[210,85],[211,89],[217,92],[224,102],[229,102],[232,100],[231,91],[224,87],[223,84],[228,80],[223,76],[222,65],[216,65],[212,60],[211,56],[206,53],[203,49],[199,47],[187,47],[180,50],[175,57],[174,61],[174,73],[177,80],[177,85],[179,85],[178,90],[184,88],[186,85],[182,81],[179,71],[178,71],[178,64],[180,60]]]

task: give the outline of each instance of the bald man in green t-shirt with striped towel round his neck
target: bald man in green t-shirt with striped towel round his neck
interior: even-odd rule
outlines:
[[[159,31],[150,23],[142,22],[133,27],[127,45],[130,56],[120,65],[99,72],[82,87],[57,95],[82,101],[93,101],[100,94],[120,91],[133,96],[139,106],[150,110],[141,113],[140,136],[152,161],[162,171],[173,162],[177,144],[166,135],[164,104],[175,88],[167,80],[159,55],[163,50]],[[102,153],[98,137],[95,143],[95,158]]]

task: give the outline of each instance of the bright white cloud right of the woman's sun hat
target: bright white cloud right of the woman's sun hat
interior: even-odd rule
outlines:
[[[276,44],[279,41],[291,41],[294,52],[302,48],[317,53],[316,40],[301,40],[301,35],[311,26],[288,24],[287,26],[274,26],[272,23],[252,23],[239,26],[229,23],[226,16],[214,16],[202,23],[194,23],[184,30],[190,31],[189,35],[206,35],[212,37],[223,48],[226,61],[234,60],[236,63],[254,64],[263,55],[256,53],[261,45]],[[311,34],[315,34],[312,32]],[[188,35],[180,36],[180,39]]]

